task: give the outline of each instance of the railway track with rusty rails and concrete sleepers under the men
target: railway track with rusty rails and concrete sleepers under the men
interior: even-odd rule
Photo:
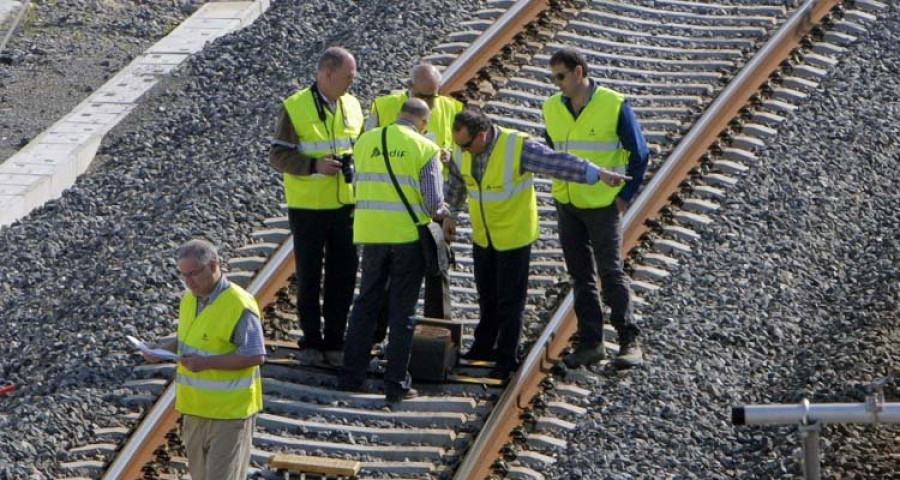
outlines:
[[[874,1],[810,1],[794,10],[682,0],[493,1],[426,60],[445,67],[445,92],[462,91],[499,123],[535,135],[540,103],[554,91],[547,61],[561,46],[581,49],[594,75],[631,99],[656,152],[644,190],[624,218],[623,249],[630,252],[639,311],[678,257],[692,251],[727,190],[753,167],[753,151],[776,134],[880,7]],[[381,395],[335,390],[331,369],[292,359],[290,341],[298,332],[286,287],[294,265],[286,219],[267,221],[253,234],[255,243],[236,251],[241,257],[231,259],[230,278],[269,306],[264,322],[272,355],[263,368],[266,407],[254,437],[254,472],[268,473],[272,456],[291,452],[358,461],[363,478],[543,478],[542,466],[566,448],[553,432],[574,427],[589,393],[578,383],[592,374],[565,372],[557,361],[575,320],[550,182],[536,185],[541,238],[532,253],[526,355],[507,387],[485,378],[490,365],[462,362],[450,381],[417,385],[422,396],[393,411]],[[453,312],[464,344],[478,313],[469,232],[464,222],[461,242],[453,245]],[[170,434],[177,421],[168,383],[174,366],[137,371],[142,378],[126,387],[139,407],[135,417],[143,420],[131,431],[102,432],[108,442],[74,449],[73,474],[178,478],[184,472]]]

